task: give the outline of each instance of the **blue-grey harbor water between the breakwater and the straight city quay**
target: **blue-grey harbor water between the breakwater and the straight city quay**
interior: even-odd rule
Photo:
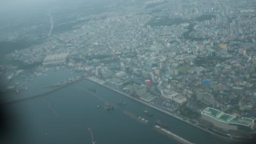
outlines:
[[[69,129],[73,129],[72,127],[74,126],[79,127],[77,129],[79,129],[79,131],[83,131],[81,133],[84,133],[84,131],[87,130],[86,128],[90,127],[91,129],[93,129],[93,132],[95,133],[95,135],[97,135],[97,143],[102,143],[102,141],[106,141],[106,143],[111,143],[112,141],[108,140],[109,137],[112,137],[111,135],[116,135],[121,132],[122,132],[122,135],[124,134],[126,136],[118,138],[116,140],[118,143],[141,143],[141,142],[142,143],[159,143],[159,142],[160,143],[165,143],[165,142],[176,143],[173,139],[170,139],[165,135],[162,135],[152,129],[157,119],[161,119],[163,123],[167,122],[168,125],[170,126],[169,130],[171,130],[172,132],[175,132],[177,135],[180,135],[180,137],[186,138],[195,143],[198,143],[198,144],[205,143],[209,138],[212,138],[207,133],[194,129],[189,125],[182,124],[182,122],[168,115],[163,114],[159,110],[151,109],[151,107],[145,108],[144,105],[141,105],[141,102],[139,101],[137,102],[129,97],[126,97],[121,93],[112,91],[109,88],[99,85],[93,81],[88,81],[86,78],[81,80],[82,81],[77,81],[74,84],[69,84],[68,86],[65,86],[65,88],[63,89],[58,89],[48,94],[44,94],[43,97],[35,97],[33,99],[22,100],[20,102],[13,102],[12,105],[6,105],[6,106],[16,107],[19,105],[28,105],[28,106],[36,105],[35,109],[33,110],[35,111],[35,114],[32,114],[32,115],[33,116],[36,115],[36,117],[38,117],[38,120],[37,120],[38,125],[43,126],[47,124],[47,121],[45,121],[45,118],[43,117],[52,117],[52,118],[55,117],[59,119],[59,121],[55,122],[53,120],[54,121],[53,124],[59,125],[63,123],[61,126],[63,127],[63,130],[59,131],[59,128],[55,128],[54,131],[58,131],[59,134],[65,135],[65,133],[63,132],[66,131],[65,129],[68,129],[68,128],[65,128],[67,127],[65,125],[67,124],[69,125],[69,123],[75,122],[72,125],[70,125],[71,128]],[[45,81],[47,81],[47,79],[45,79]],[[44,89],[44,88],[41,86],[41,89]],[[37,92],[37,91],[33,91],[33,89],[29,89],[29,91],[31,93]],[[94,95],[97,97],[94,97]],[[47,102],[45,102],[44,99]],[[113,105],[115,104],[116,105],[115,110],[113,111],[105,110],[103,106],[107,103],[111,103]],[[121,103],[122,105],[119,105],[118,103]],[[51,106],[51,108],[49,107],[49,105]],[[98,106],[100,107],[98,108]],[[45,111],[40,110],[42,109],[42,107],[43,109],[45,109]],[[146,115],[144,113],[145,109],[153,113],[154,116],[150,117]],[[22,110],[22,111],[28,111],[28,113],[31,113],[29,112],[29,110]],[[61,116],[56,115],[54,111]],[[129,111],[135,116],[146,118],[148,120],[148,124],[143,124],[137,121],[137,119],[127,116],[126,114],[124,114],[124,111]],[[46,113],[47,116],[45,116],[44,113]],[[43,117],[41,117],[41,115]],[[108,120],[106,121],[106,119]],[[76,122],[76,121],[79,121],[79,122]],[[172,125],[173,123],[175,123],[175,125]],[[82,126],[83,129],[81,128],[81,124],[85,125],[85,126]],[[102,126],[106,128],[102,130]],[[40,128],[40,129],[47,129],[46,131],[48,133],[47,135],[50,135],[52,127],[54,126],[47,128],[47,125],[46,125],[44,127],[45,128]],[[113,129],[113,127],[115,127],[116,131],[109,132],[108,130]],[[186,134],[186,131],[185,132],[183,131],[185,127],[187,131],[189,131],[191,134]],[[140,131],[134,132],[135,129],[140,129]],[[99,131],[102,131],[105,134],[100,134]],[[79,135],[76,135],[76,133],[77,132],[74,131],[74,135],[72,137],[78,138],[77,140],[85,139],[84,135],[83,137],[80,138]],[[133,137],[133,139],[138,139],[140,141],[138,142],[133,141],[130,137],[127,137],[127,135],[129,135],[130,133],[136,134],[137,136],[135,138]],[[149,138],[141,137],[141,133],[144,133]],[[38,134],[39,133],[35,133],[34,135],[38,135]],[[195,134],[204,135],[205,138],[197,140]],[[29,135],[31,134],[29,133]],[[63,136],[63,139],[69,139],[69,137],[70,136],[65,135]],[[127,142],[124,142],[123,139],[125,138],[130,140]],[[52,139],[55,139],[55,137],[54,138],[52,137]],[[90,143],[91,138],[88,137],[87,139],[89,140],[87,143]],[[45,141],[45,143],[47,143],[46,142],[47,139],[42,141]],[[58,140],[58,141],[61,141],[61,140]],[[212,141],[210,142],[211,144],[219,143],[219,140],[213,139],[211,141]],[[38,143],[38,142],[34,142],[34,143]],[[65,143],[65,142],[62,141],[61,143]]]

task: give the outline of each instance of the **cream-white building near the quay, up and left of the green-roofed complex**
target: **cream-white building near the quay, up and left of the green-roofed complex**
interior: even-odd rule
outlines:
[[[179,93],[173,92],[173,91],[170,91],[170,90],[166,90],[166,89],[162,90],[161,94],[165,99],[173,100],[173,101],[175,101],[179,104],[182,104],[182,103],[187,101],[187,98],[185,96],[180,95]]]

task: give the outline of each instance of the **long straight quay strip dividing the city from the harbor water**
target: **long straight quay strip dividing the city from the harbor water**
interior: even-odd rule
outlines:
[[[245,140],[237,140],[237,139],[231,139],[231,138],[223,137],[222,135],[219,135],[219,134],[217,134],[217,133],[214,133],[214,132],[212,132],[212,131],[203,129],[202,127],[199,127],[199,126],[197,126],[197,125],[195,125],[195,124],[190,123],[190,122],[189,122],[189,119],[184,120],[183,118],[181,118],[181,117],[179,117],[179,116],[177,116],[177,115],[174,115],[174,114],[170,113],[169,111],[166,111],[166,110],[164,110],[164,109],[162,109],[162,108],[159,108],[159,107],[157,107],[157,106],[151,105],[150,103],[147,103],[147,102],[142,101],[142,100],[140,100],[140,99],[136,99],[136,98],[132,97],[131,95],[126,94],[126,93],[124,93],[124,92],[122,92],[122,91],[118,91],[118,90],[116,90],[116,89],[113,89],[113,88],[110,87],[110,86],[106,86],[106,85],[104,85],[104,84],[101,84],[101,83],[98,83],[98,82],[96,82],[96,81],[93,81],[93,79],[90,79],[90,78],[88,78],[88,77],[86,77],[85,79],[87,79],[88,81],[91,81],[91,82],[93,82],[93,83],[95,83],[95,84],[99,84],[99,85],[101,85],[101,86],[103,86],[103,87],[106,87],[106,88],[109,89],[109,90],[112,90],[112,91],[115,91],[115,92],[117,92],[117,93],[119,93],[119,94],[125,95],[126,97],[128,97],[128,98],[130,98],[130,99],[132,99],[132,100],[135,100],[135,101],[137,101],[137,102],[140,102],[140,103],[142,103],[143,105],[146,105],[146,106],[151,107],[151,108],[153,108],[153,109],[155,109],[155,110],[158,110],[158,111],[160,111],[160,112],[162,112],[162,113],[164,113],[164,114],[166,114],[166,115],[169,115],[169,116],[172,116],[172,117],[174,117],[174,118],[177,118],[177,119],[179,119],[180,121],[182,121],[182,122],[184,122],[184,123],[193,125],[193,126],[197,127],[198,129],[201,129],[201,130],[203,130],[203,131],[205,131],[205,132],[208,132],[208,133],[214,135],[215,137],[220,138],[221,140],[236,141],[236,142],[246,142]]]

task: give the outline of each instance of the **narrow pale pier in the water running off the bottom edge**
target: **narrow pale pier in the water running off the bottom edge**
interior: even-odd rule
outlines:
[[[194,143],[192,143],[192,142],[190,142],[190,141],[188,141],[186,139],[183,139],[183,138],[179,137],[178,135],[176,135],[176,134],[174,134],[174,133],[164,129],[161,126],[155,125],[154,126],[154,130],[156,130],[157,132],[162,133],[164,135],[167,135],[168,137],[178,141],[179,143],[182,143],[182,144],[194,144]]]

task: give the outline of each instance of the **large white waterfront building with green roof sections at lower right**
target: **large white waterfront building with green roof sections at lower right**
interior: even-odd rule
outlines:
[[[202,119],[224,130],[250,131],[254,129],[254,119],[246,117],[237,118],[235,115],[229,115],[210,107],[201,111],[201,116]]]

